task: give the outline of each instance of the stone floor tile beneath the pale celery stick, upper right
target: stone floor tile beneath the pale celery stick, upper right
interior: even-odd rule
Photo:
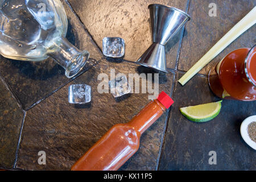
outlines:
[[[216,3],[217,5],[217,16],[215,17],[208,15],[210,3]],[[185,34],[187,35],[184,36],[181,44],[178,68],[182,71],[188,71],[254,6],[255,1],[253,0],[191,0],[188,9],[191,20],[185,26]],[[254,46],[256,43],[255,31],[256,26],[254,25],[225,48],[200,73],[208,74],[210,68],[216,65],[229,52],[242,47]]]

